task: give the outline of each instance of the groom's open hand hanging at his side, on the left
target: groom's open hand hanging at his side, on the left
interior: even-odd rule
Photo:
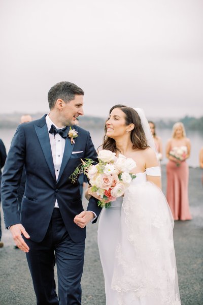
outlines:
[[[10,226],[10,230],[13,236],[13,239],[16,243],[16,246],[23,252],[29,252],[29,247],[27,246],[26,242],[22,238],[23,234],[25,238],[29,238],[29,234],[25,231],[25,228],[21,224]]]

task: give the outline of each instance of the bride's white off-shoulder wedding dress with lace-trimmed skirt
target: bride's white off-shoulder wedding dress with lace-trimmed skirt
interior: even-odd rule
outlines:
[[[174,220],[159,188],[136,174],[124,197],[101,212],[98,248],[107,305],[180,305]]]

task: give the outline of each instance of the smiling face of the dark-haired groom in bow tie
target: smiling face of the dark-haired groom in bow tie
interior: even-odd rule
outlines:
[[[70,102],[63,102],[62,120],[64,126],[75,125],[75,121],[79,115],[83,115],[83,96],[75,95],[75,99]]]

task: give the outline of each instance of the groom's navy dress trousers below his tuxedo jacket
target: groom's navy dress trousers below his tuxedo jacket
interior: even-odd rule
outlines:
[[[54,208],[52,219],[42,242],[25,238],[26,253],[37,305],[81,305],[81,277],[84,263],[85,240],[74,242],[64,226],[59,208]],[[54,280],[57,266],[58,297]]]

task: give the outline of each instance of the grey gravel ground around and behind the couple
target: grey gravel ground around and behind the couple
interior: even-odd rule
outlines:
[[[174,241],[182,305],[203,304],[201,175],[200,169],[190,168],[189,198],[193,220],[175,222]],[[165,166],[162,166],[162,184],[165,192]],[[86,204],[84,199],[84,207]],[[105,305],[104,278],[97,248],[97,226],[98,224],[94,224],[87,227],[82,278],[83,305]],[[3,213],[2,228],[4,228]],[[0,305],[35,305],[36,298],[25,254],[14,249],[8,230],[3,229],[2,241],[5,246],[0,249]]]

